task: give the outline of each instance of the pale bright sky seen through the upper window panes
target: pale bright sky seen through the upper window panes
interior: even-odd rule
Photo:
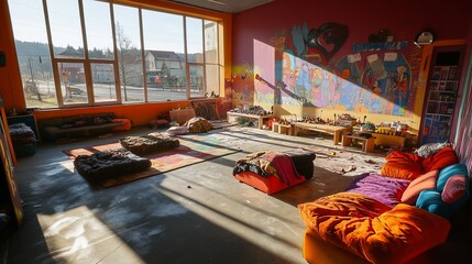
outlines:
[[[47,43],[42,0],[9,0],[15,40]],[[114,6],[114,18],[123,28],[132,46],[140,47],[138,9]],[[51,31],[54,46],[83,47],[83,34],[77,0],[47,0]],[[89,50],[112,50],[109,3],[84,0],[87,42]],[[188,53],[202,48],[201,29],[195,25],[201,20],[187,18]],[[151,10],[143,10],[145,50],[174,51],[184,53],[183,16]]]

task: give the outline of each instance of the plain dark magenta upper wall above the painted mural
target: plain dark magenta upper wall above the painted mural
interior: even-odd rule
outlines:
[[[233,65],[253,63],[254,38],[268,43],[277,32],[289,32],[304,22],[309,29],[327,22],[349,26],[349,38],[333,58],[352,53],[352,43],[367,42],[370,34],[382,29],[388,29],[395,41],[413,41],[425,28],[432,29],[437,40],[465,38],[471,8],[469,0],[397,0],[382,4],[374,0],[275,0],[233,16]]]

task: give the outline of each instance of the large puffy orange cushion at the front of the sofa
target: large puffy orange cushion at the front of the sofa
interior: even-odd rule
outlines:
[[[447,240],[448,220],[398,204],[389,207],[372,198],[339,193],[298,206],[308,228],[325,241],[372,263],[404,263]]]

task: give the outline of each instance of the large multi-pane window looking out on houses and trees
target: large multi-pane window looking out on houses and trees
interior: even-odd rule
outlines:
[[[218,95],[220,25],[94,0],[9,0],[28,108]]]

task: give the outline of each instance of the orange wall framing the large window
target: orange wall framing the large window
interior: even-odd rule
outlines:
[[[162,0],[118,0],[116,3],[132,4],[134,7],[151,8],[162,11],[173,11],[176,13],[204,16],[219,21],[224,29],[224,78],[231,75],[231,31],[232,16],[219,12],[212,12],[198,8],[182,6]],[[7,55],[7,66],[0,67],[0,94],[3,98],[3,106],[7,111],[15,108],[18,112],[25,111],[24,96],[22,92],[21,76],[14,48],[13,33],[11,30],[10,13],[7,0],[0,0],[0,51]],[[220,95],[224,95],[223,87]],[[75,114],[114,112],[118,117],[125,117],[132,120],[134,125],[149,124],[158,113],[166,112],[174,108],[187,107],[190,101],[155,102],[143,105],[119,105],[106,107],[73,108],[73,109],[51,109],[36,110],[34,116],[37,120],[66,117]]]

